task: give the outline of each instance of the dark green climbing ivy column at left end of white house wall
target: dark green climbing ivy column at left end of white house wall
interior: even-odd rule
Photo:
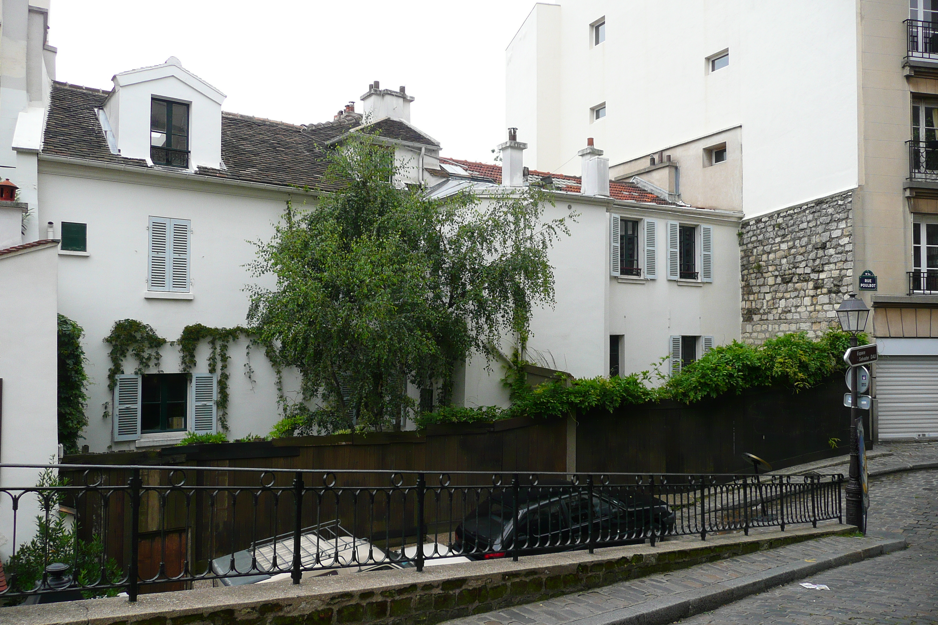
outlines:
[[[58,316],[58,441],[67,454],[78,452],[78,439],[88,424],[83,335],[82,326],[65,315]]]

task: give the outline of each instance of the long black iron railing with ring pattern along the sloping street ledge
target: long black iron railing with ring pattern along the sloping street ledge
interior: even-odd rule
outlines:
[[[15,467],[36,466],[0,465]],[[42,469],[65,479],[0,489],[0,522],[16,549],[0,600],[54,586],[84,597],[126,590],[135,601],[199,580],[299,583],[303,574],[842,520],[842,475]],[[55,585],[43,573],[56,562],[68,565],[67,584],[61,566]]]

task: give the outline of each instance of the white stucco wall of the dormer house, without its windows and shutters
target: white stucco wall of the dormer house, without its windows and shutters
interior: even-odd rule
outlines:
[[[274,286],[272,276],[257,280],[246,266],[255,260],[250,241],[267,241],[285,207],[280,191],[254,190],[217,183],[189,182],[146,172],[113,171],[40,161],[40,221],[53,221],[56,236],[62,221],[87,224],[88,256],[59,257],[59,310],[85,332],[88,389],[88,429],[85,439],[93,452],[132,449],[134,443],[112,441],[112,419],[102,419],[108,391],[110,346],[102,339],[115,320],[134,319],[153,326],[160,336],[175,340],[192,323],[209,327],[244,325],[249,284]],[[302,199],[295,201],[295,205]],[[149,216],[191,220],[191,300],[144,298],[147,275]],[[245,375],[246,341],[230,347],[228,408],[229,439],[247,434],[266,435],[280,419],[275,374],[262,349],[250,353],[252,385]],[[162,351],[163,373],[178,372],[179,351]],[[197,354],[193,372],[207,372],[207,342]],[[132,357],[125,372],[136,366]],[[156,373],[151,370],[149,373]],[[285,390],[299,388],[295,372],[285,371]]]

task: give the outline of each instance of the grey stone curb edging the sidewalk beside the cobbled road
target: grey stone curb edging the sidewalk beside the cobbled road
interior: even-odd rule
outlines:
[[[827,569],[884,556],[904,549],[906,546],[905,539],[883,539],[862,549],[844,549],[828,554],[817,558],[816,562],[792,562],[768,571],[719,582],[710,587],[658,597],[648,602],[636,603],[593,617],[567,621],[565,625],[665,625],[681,618],[715,610],[722,605],[739,601],[768,588],[790,584]]]

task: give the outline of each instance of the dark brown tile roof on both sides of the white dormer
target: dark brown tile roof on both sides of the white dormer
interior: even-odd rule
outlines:
[[[142,159],[111,154],[95,112],[108,94],[54,82],[42,152],[147,167]],[[343,120],[296,126],[222,112],[221,159],[227,169],[200,167],[196,173],[267,185],[334,188],[323,181],[325,143],[353,127]]]

